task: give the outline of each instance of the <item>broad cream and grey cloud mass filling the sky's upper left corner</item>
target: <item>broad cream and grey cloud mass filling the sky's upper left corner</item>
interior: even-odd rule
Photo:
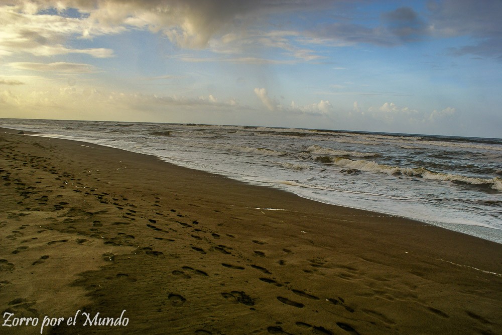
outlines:
[[[284,16],[291,12],[332,8],[336,3],[327,0],[315,3],[295,0],[12,0],[8,6],[0,6],[0,21],[3,22],[0,44],[6,47],[2,51],[4,54],[83,53],[105,58],[112,57],[113,52],[70,48],[67,41],[149,30],[166,36],[181,48],[209,48],[217,54],[250,55],[228,60],[234,63],[273,64],[275,61],[253,55],[266,48],[279,48],[293,60],[308,62],[324,56],[299,45],[303,43],[301,32],[270,30],[266,20],[275,14]]]

